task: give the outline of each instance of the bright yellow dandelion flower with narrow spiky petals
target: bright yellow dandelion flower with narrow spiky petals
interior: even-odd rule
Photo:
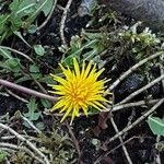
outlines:
[[[63,121],[68,115],[71,115],[71,122],[74,117],[79,117],[80,109],[87,116],[89,107],[98,110],[105,108],[103,103],[108,102],[103,97],[105,93],[105,80],[97,80],[105,69],[96,71],[96,65],[92,66],[90,61],[87,66],[83,61],[82,69],[75,58],[73,58],[73,70],[69,67],[63,68],[59,65],[65,78],[51,74],[59,84],[50,85],[55,93],[59,95],[57,104],[54,105],[51,112],[58,109],[66,113],[61,119]]]

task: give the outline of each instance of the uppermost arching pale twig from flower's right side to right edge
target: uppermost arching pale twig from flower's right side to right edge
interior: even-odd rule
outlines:
[[[107,89],[108,91],[114,90],[124,79],[126,79],[131,72],[133,72],[134,70],[137,70],[139,67],[141,67],[142,65],[144,65],[145,62],[148,62],[149,60],[152,60],[156,57],[160,57],[161,55],[164,55],[164,51],[160,51],[156,52],[154,55],[151,55],[150,57],[141,60],[140,62],[136,63],[133,67],[131,67],[128,71],[126,71],[122,75],[120,75],[110,86],[109,89]]]

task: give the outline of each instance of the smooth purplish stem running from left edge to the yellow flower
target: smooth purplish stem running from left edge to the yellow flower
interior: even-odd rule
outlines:
[[[34,90],[31,90],[31,89],[27,89],[27,87],[24,87],[24,86],[14,84],[14,83],[9,82],[9,81],[7,81],[7,80],[0,79],[0,84],[1,84],[1,85],[4,85],[4,86],[7,86],[7,87],[11,87],[11,89],[14,89],[14,90],[16,90],[16,91],[21,91],[21,92],[23,92],[23,93],[26,93],[26,94],[36,96],[36,97],[45,98],[45,99],[48,99],[48,101],[51,101],[51,102],[57,101],[57,97],[55,97],[55,96],[50,96],[50,95],[47,95],[47,94],[44,94],[44,93],[34,91]]]

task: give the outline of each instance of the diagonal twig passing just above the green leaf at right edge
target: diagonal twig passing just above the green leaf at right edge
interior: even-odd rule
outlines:
[[[132,129],[134,126],[137,126],[139,122],[141,122],[144,118],[147,118],[149,115],[151,115],[159,106],[161,106],[164,103],[164,98],[160,99],[150,110],[148,110],[145,114],[143,114],[141,117],[139,117],[133,124],[131,124],[129,127],[122,129],[120,132],[116,133],[113,138],[110,138],[107,143],[116,140],[120,136],[122,136],[125,132]]]

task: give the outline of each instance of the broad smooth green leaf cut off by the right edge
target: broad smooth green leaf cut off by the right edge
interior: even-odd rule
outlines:
[[[159,117],[149,117],[148,124],[154,134],[164,136],[164,119]]]

